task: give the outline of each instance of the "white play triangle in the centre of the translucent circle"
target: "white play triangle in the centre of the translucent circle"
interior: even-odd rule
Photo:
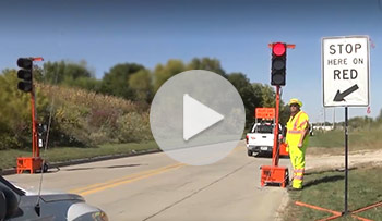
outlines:
[[[183,95],[183,139],[191,137],[222,121],[224,115],[199,102],[188,94]]]

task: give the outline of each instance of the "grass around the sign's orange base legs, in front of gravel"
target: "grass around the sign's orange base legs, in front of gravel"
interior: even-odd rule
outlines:
[[[350,211],[382,201],[382,168],[363,165],[349,171],[348,209]],[[284,220],[319,220],[331,217],[322,212],[294,205],[296,200],[342,212],[344,210],[344,172],[317,171],[305,176],[305,188],[289,194],[291,201],[284,210]],[[382,207],[370,209],[358,217],[382,220]],[[350,217],[337,220],[354,220]]]

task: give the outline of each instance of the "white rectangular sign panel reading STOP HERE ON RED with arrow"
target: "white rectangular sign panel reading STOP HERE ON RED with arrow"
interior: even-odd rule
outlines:
[[[369,37],[322,38],[324,107],[369,106]]]

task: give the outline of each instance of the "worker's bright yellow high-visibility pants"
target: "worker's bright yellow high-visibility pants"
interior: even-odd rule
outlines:
[[[307,145],[303,145],[301,148],[298,148],[298,146],[289,146],[289,157],[294,168],[294,181],[291,184],[294,188],[302,188],[303,170],[306,168],[306,150]]]

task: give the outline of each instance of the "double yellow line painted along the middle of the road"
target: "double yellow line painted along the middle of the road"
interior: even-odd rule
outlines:
[[[92,185],[81,187],[81,188],[73,188],[69,192],[73,193],[73,194],[79,194],[81,196],[85,196],[85,195],[89,195],[89,194],[100,192],[100,191],[104,191],[107,188],[112,188],[112,187],[116,187],[116,186],[119,186],[122,184],[128,184],[128,183],[140,181],[140,180],[143,180],[146,177],[151,177],[153,175],[157,175],[157,174],[170,171],[170,170],[179,169],[179,168],[184,167],[184,165],[186,165],[184,163],[176,163],[176,164],[171,164],[171,165],[166,165],[166,167],[154,169],[154,170],[134,173],[134,174],[127,175],[127,176],[123,176],[120,179],[115,179],[115,180],[107,181],[104,183],[96,183],[96,184],[92,184]]]

